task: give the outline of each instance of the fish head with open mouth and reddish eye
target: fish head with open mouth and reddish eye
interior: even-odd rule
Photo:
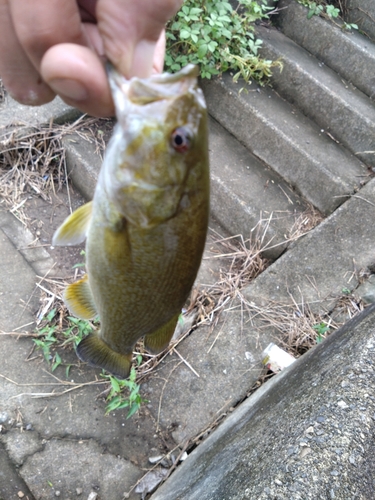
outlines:
[[[130,223],[148,228],[189,205],[207,161],[207,112],[198,70],[109,80],[116,125],[103,165],[105,190]]]

